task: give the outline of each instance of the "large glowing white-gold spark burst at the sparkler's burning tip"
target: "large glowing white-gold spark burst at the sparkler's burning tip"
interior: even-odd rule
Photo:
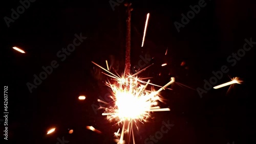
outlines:
[[[94,63],[94,62],[92,62]],[[104,101],[98,100],[98,102],[108,104],[108,107],[105,108],[105,112],[102,115],[106,115],[109,121],[115,121],[117,124],[122,124],[122,131],[120,134],[120,139],[118,143],[124,143],[124,133],[130,135],[129,140],[133,138],[133,143],[135,143],[133,127],[136,127],[138,130],[137,122],[147,122],[147,119],[151,117],[152,112],[154,111],[169,111],[169,108],[160,108],[158,105],[159,102],[163,100],[159,97],[159,92],[167,88],[170,84],[175,82],[175,78],[171,78],[170,82],[166,85],[155,90],[148,90],[146,87],[148,84],[155,85],[150,83],[150,80],[147,82],[142,81],[136,75],[129,76],[116,76],[111,73],[109,70],[101,67],[100,65],[94,63],[103,70],[107,71],[109,74],[105,74],[115,81],[114,83],[106,82],[112,89],[112,95],[110,98],[113,100],[114,104],[108,104]],[[158,86],[158,85],[155,85]],[[118,135],[119,130],[115,135]]]

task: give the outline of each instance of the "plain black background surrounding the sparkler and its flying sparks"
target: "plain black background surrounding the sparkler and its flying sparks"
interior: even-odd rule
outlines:
[[[233,67],[226,60],[243,48],[245,38],[256,41],[255,1],[206,1],[207,5],[178,33],[174,22],[181,22],[181,14],[198,2],[132,2],[131,65],[137,65],[140,55],[154,57],[154,65],[140,76],[154,77],[152,81],[158,85],[174,76],[177,82],[193,89],[203,88],[203,80],[208,81],[213,76],[211,71],[220,70],[222,65],[227,65],[229,72],[218,84],[233,77],[241,77],[244,83],[229,91],[228,87],[211,89],[202,98],[196,90],[174,84],[173,90],[161,93],[166,99],[163,107],[171,111],[154,113],[150,123],[140,125],[137,143],[144,143],[146,137],[160,130],[162,121],[168,120],[175,126],[158,143],[255,143],[252,82],[256,46]],[[37,0],[9,28],[4,17],[10,17],[11,9],[16,10],[20,3],[1,3],[1,81],[8,86],[9,98],[8,141],[4,142],[56,143],[57,137],[64,136],[69,143],[115,143],[113,133],[118,127],[112,127],[114,123],[106,121],[102,111],[95,114],[92,108],[100,95],[104,98],[106,90],[102,83],[105,77],[95,73],[98,69],[91,61],[103,67],[105,60],[112,61],[118,73],[123,72],[124,3],[113,11],[109,1]],[[151,15],[141,47],[147,13]],[[80,33],[88,38],[60,61],[56,53]],[[14,51],[13,46],[26,54]],[[52,60],[58,61],[59,67],[30,93],[26,83],[33,83],[33,75],[38,76],[41,67]],[[186,62],[184,66],[180,65],[182,61]],[[168,65],[161,67],[164,62]],[[81,94],[87,96],[85,101],[78,100]],[[0,126],[3,133],[2,122]],[[86,126],[94,126],[102,134]],[[56,131],[46,135],[52,127]],[[74,133],[68,134],[68,129]]]

